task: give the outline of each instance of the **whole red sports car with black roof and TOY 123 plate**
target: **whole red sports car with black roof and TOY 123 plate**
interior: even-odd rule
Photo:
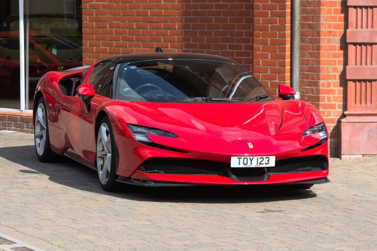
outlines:
[[[276,100],[236,62],[136,53],[49,72],[34,95],[35,150],[98,172],[103,189],[328,182],[318,110],[280,85]]]

